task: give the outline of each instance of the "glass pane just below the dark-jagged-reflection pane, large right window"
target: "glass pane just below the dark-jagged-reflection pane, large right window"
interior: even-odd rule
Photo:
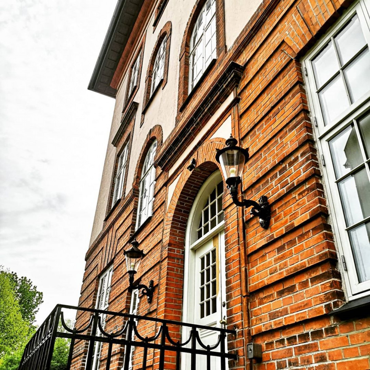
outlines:
[[[370,216],[370,182],[366,169],[340,181],[338,187],[347,226]]]

